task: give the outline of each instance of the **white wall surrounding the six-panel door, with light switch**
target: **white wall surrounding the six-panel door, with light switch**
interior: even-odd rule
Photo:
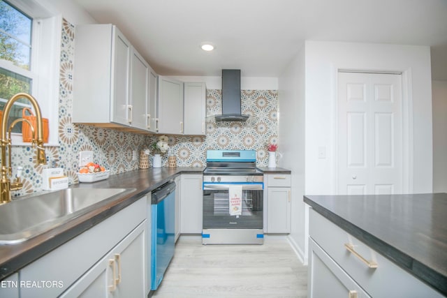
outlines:
[[[405,144],[413,154],[409,185],[413,193],[432,191],[432,83],[430,47],[367,43],[305,42],[305,193],[335,193],[335,103],[337,69],[399,71],[409,85],[409,129]],[[318,147],[326,158],[318,159]]]

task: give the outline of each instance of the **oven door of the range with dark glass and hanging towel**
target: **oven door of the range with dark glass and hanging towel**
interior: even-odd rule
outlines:
[[[242,186],[242,214],[230,215],[232,186]],[[204,183],[203,229],[263,229],[263,183]]]

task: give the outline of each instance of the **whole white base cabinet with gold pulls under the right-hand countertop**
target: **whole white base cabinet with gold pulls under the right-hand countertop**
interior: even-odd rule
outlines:
[[[309,237],[309,298],[443,297],[314,209]]]

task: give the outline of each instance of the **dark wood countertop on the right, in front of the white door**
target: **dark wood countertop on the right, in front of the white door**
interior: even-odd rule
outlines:
[[[447,193],[305,195],[304,201],[447,296]]]

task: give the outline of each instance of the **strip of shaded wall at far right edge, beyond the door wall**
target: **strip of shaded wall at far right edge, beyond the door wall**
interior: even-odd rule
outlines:
[[[447,81],[433,81],[433,191],[447,193]]]

